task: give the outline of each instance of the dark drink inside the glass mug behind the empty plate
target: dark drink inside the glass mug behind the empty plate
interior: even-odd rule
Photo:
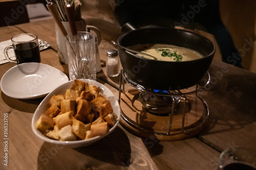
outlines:
[[[39,46],[35,42],[16,44],[14,52],[18,64],[41,61]]]

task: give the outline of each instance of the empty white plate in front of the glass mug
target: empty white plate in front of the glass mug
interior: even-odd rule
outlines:
[[[42,63],[23,63],[9,69],[1,79],[2,91],[15,99],[46,96],[69,78],[57,68]]]

